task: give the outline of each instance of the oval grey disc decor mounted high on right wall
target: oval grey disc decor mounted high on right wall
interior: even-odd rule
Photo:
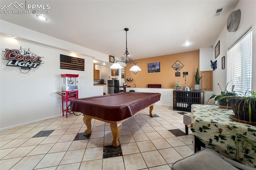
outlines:
[[[237,30],[240,23],[240,18],[241,18],[240,10],[235,10],[230,13],[227,21],[228,32],[235,32]]]

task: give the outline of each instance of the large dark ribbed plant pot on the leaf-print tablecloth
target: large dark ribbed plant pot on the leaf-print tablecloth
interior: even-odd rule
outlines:
[[[249,109],[248,105],[245,104],[245,99],[240,99],[238,97],[236,98],[229,98],[228,99],[231,103],[232,110],[235,114],[235,118],[242,121],[250,121],[249,119]],[[254,103],[256,103],[256,100],[254,99]],[[251,121],[256,122],[256,105],[254,105],[254,108],[252,108],[252,115],[251,115]]]

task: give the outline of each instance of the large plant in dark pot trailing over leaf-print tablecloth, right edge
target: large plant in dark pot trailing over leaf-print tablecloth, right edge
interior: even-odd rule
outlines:
[[[234,86],[232,89],[234,89]],[[239,96],[223,95],[218,98],[218,101],[226,99],[231,103],[234,115],[229,115],[229,117],[233,121],[256,125],[256,92],[246,91],[246,93],[241,94]],[[248,132],[255,134],[256,131],[250,128],[250,125],[246,125],[248,127]],[[233,126],[233,129],[238,129],[238,127]],[[246,136],[248,135],[246,132],[239,130],[236,131],[236,135],[231,136],[234,140],[235,146],[227,146],[229,153],[235,154],[235,159],[233,160],[240,162],[240,160],[243,160],[244,158],[247,158],[248,160],[253,159],[251,155],[255,155],[256,153],[256,141],[248,138]],[[226,136],[228,134],[223,135]]]

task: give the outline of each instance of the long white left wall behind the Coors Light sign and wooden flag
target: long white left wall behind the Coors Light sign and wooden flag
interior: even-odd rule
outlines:
[[[93,85],[93,57],[104,54],[74,45],[41,33],[0,20],[0,129],[32,123],[38,120],[56,117],[62,114],[60,74],[79,74],[79,97],[90,97],[103,94],[101,86]],[[10,36],[18,37],[12,39]],[[21,39],[20,39],[21,38]],[[56,45],[54,47],[54,45]],[[28,49],[39,55],[44,64],[31,69],[26,74],[20,67],[6,66],[4,54],[6,48]],[[71,51],[80,51],[74,55]],[[63,50],[62,50],[63,49]],[[76,49],[76,50],[75,50]],[[60,69],[60,54],[85,59],[85,71]],[[106,55],[108,59],[108,55]]]

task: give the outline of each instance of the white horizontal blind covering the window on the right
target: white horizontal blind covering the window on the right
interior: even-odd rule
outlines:
[[[228,49],[228,88],[245,93],[252,90],[252,29]]]

